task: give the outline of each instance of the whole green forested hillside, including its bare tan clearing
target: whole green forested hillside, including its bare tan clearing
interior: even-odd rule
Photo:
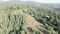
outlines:
[[[29,4],[0,5],[0,34],[59,33],[59,12]]]

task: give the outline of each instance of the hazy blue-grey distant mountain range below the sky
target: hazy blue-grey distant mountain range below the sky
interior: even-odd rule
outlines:
[[[1,4],[15,4],[15,3],[31,4],[34,6],[39,6],[39,7],[47,8],[47,9],[54,10],[54,11],[60,11],[60,3],[37,3],[34,1],[20,1],[20,0],[14,1],[14,0],[12,0],[12,1],[8,1],[8,2],[0,2],[0,5]]]

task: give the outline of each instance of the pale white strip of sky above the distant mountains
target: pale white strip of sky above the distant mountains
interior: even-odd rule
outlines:
[[[6,2],[6,1],[11,1],[11,0],[0,0],[0,2],[1,1]],[[60,0],[20,0],[20,1],[35,1],[38,3],[60,3]]]

